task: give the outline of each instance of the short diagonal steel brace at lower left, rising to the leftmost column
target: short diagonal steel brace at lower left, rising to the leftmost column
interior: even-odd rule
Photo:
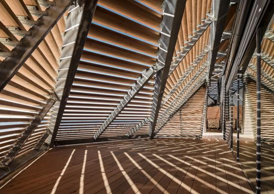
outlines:
[[[34,132],[34,130],[39,126],[43,118],[46,116],[50,108],[53,106],[57,99],[55,97],[51,97],[48,99],[46,105],[40,110],[39,114],[35,117],[35,119],[32,121],[29,127],[26,128],[26,130],[23,132],[22,136],[18,138],[17,142],[13,146],[13,148],[10,150],[6,158],[1,162],[4,165],[9,165],[10,162],[16,157],[18,152],[21,150],[21,148],[24,146],[24,144],[27,142],[31,134]]]

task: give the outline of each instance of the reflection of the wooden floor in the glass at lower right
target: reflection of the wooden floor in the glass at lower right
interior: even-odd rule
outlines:
[[[234,134],[235,136],[235,134]],[[236,139],[236,138],[234,138]],[[236,142],[234,143],[236,145]],[[251,135],[240,135],[240,163],[253,188],[256,187],[256,144]],[[236,147],[234,147],[236,150]],[[262,143],[261,194],[274,194],[274,144]]]

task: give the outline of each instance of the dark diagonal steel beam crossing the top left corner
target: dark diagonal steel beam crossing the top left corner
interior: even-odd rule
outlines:
[[[31,56],[41,41],[50,32],[54,25],[64,15],[73,0],[56,0],[55,6],[49,6],[46,11],[48,15],[42,15],[38,21],[39,25],[34,25],[28,33],[20,40],[20,45],[14,47],[10,54],[12,57],[6,57],[0,62],[0,91],[6,86],[9,80],[15,75],[19,68]],[[14,36],[11,36],[14,38]]]

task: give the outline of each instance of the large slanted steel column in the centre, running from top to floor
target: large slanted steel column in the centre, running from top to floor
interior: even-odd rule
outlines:
[[[165,0],[161,33],[163,38],[160,40],[158,61],[164,64],[164,68],[156,74],[155,90],[152,101],[151,123],[149,127],[150,138],[154,137],[154,130],[161,107],[166,80],[175,49],[178,32],[181,26],[186,0]]]

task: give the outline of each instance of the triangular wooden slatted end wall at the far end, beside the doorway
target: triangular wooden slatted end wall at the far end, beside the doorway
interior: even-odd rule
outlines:
[[[202,118],[205,100],[204,87],[172,117],[172,119],[159,131],[158,136],[196,137],[203,128]]]

